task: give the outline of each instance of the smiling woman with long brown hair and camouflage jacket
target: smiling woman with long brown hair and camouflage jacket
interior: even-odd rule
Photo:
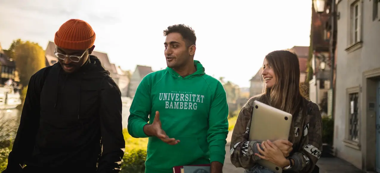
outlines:
[[[231,139],[231,162],[245,172],[276,172],[279,168],[310,173],[322,149],[322,123],[318,105],[307,100],[300,89],[299,60],[294,52],[281,50],[266,55],[263,63],[264,93],[250,98],[241,109]],[[288,140],[249,140],[254,101],[293,115]],[[271,126],[271,124],[268,124]],[[277,165],[263,167],[264,159]]]

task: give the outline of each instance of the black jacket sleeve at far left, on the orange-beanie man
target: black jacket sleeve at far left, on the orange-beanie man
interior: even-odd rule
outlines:
[[[40,93],[47,68],[37,71],[30,78],[21,119],[14,139],[12,151],[8,156],[8,166],[3,173],[17,173],[25,160],[32,155],[35,137],[40,124]]]

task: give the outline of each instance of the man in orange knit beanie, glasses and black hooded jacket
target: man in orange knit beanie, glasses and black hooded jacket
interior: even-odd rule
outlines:
[[[59,63],[30,78],[3,173],[120,171],[125,150],[120,89],[90,55],[94,41],[92,27],[78,19],[55,33]]]

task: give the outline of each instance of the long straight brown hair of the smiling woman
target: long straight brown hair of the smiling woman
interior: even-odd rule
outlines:
[[[270,89],[266,88],[264,83],[263,94],[260,100],[270,106],[292,114],[293,119],[295,119],[306,101],[299,82],[298,56],[290,50],[280,50],[270,52],[265,56],[265,59],[274,70],[276,83]],[[289,137],[290,141],[294,142],[293,122]]]

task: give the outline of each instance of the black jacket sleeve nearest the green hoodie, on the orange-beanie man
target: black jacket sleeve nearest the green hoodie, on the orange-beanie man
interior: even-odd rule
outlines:
[[[125,151],[122,127],[122,101],[119,87],[110,77],[100,91],[100,124],[102,153],[98,173],[118,173]]]

